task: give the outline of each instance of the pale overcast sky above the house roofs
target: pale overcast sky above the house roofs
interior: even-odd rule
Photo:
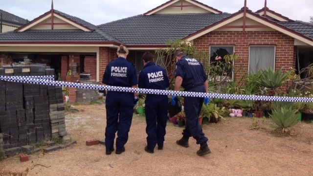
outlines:
[[[143,14],[168,0],[53,0],[53,8],[95,25]],[[198,0],[222,12],[239,11],[245,0]],[[247,0],[253,12],[265,0]],[[313,0],[267,0],[267,7],[291,20],[310,22]],[[0,9],[29,21],[51,9],[51,0],[0,0]]]

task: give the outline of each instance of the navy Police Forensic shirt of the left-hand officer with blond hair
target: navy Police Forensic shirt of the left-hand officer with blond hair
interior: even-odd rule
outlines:
[[[132,87],[138,84],[134,64],[123,57],[110,62],[103,75],[102,83],[110,86]]]

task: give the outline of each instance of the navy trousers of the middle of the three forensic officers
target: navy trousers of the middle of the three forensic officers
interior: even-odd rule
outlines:
[[[147,146],[154,151],[157,146],[163,146],[167,122],[168,97],[167,95],[147,95],[145,100]]]

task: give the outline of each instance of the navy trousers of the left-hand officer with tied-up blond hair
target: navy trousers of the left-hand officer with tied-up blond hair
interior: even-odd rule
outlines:
[[[128,140],[134,113],[134,93],[108,91],[106,96],[107,126],[105,145],[111,149],[114,145],[115,133],[116,149],[122,149]]]

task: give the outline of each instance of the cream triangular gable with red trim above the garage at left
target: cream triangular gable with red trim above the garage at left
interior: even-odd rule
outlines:
[[[57,10],[51,10],[34,19],[28,24],[16,29],[16,32],[23,32],[26,30],[53,30],[53,29],[70,29],[93,31],[93,29],[75,22]]]

